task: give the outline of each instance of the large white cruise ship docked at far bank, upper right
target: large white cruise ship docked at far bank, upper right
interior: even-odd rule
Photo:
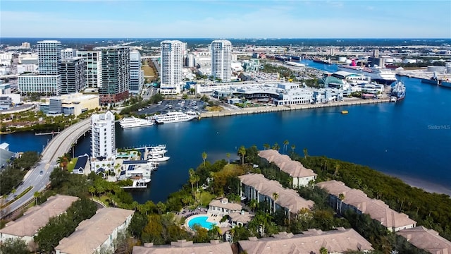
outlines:
[[[381,67],[366,67],[366,66],[356,66],[354,60],[352,60],[351,65],[339,65],[338,71],[349,71],[352,73],[359,73],[362,75],[369,76],[371,80],[376,81],[377,83],[383,83],[385,85],[395,82],[396,73],[393,70],[388,68]]]

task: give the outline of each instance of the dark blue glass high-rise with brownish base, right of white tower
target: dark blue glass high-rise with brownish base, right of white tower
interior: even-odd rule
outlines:
[[[100,104],[121,102],[130,90],[130,48],[102,47]]]

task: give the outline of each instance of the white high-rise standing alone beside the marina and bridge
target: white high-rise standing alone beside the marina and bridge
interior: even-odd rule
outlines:
[[[114,133],[114,114],[91,116],[91,152],[93,158],[109,159],[116,157],[116,135]]]

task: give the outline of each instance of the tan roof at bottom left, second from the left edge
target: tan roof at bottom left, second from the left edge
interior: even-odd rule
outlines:
[[[73,234],[61,239],[55,250],[61,253],[92,254],[133,212],[119,208],[101,208],[91,219],[80,222]]]

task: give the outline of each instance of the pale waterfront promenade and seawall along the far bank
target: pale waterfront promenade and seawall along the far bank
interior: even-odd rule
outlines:
[[[208,117],[217,117],[217,116],[236,116],[243,114],[259,114],[259,113],[269,113],[269,112],[277,112],[277,111],[290,111],[290,110],[299,110],[299,109],[318,109],[323,107],[343,107],[343,106],[354,106],[354,105],[363,105],[363,104],[376,104],[390,102],[390,99],[359,99],[359,98],[350,98],[345,99],[342,102],[329,102],[324,104],[302,104],[302,105],[289,105],[289,106],[265,106],[265,107],[248,107],[244,109],[230,109],[224,111],[209,111],[204,112],[200,116],[202,118]]]

